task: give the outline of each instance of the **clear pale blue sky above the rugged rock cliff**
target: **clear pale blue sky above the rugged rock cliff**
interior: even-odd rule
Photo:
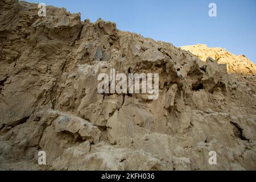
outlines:
[[[82,20],[110,20],[117,23],[119,30],[136,32],[177,47],[201,43],[226,48],[256,63],[255,0],[27,1],[80,12]],[[211,2],[217,5],[217,17],[208,15]]]

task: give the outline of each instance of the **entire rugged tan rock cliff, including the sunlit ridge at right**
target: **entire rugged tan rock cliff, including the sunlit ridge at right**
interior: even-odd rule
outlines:
[[[256,169],[255,65],[245,57],[183,47],[197,57],[112,22],[38,10],[0,1],[0,169]],[[110,69],[159,73],[158,99],[98,93]]]

